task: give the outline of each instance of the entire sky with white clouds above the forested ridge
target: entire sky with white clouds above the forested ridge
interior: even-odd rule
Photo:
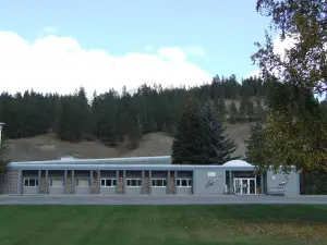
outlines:
[[[257,74],[256,0],[0,0],[0,91],[88,94]]]

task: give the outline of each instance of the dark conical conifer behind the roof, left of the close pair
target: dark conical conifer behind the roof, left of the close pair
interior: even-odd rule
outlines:
[[[195,101],[189,98],[172,143],[173,164],[206,164],[208,158],[201,118]]]

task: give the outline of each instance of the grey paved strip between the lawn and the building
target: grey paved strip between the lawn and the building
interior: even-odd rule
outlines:
[[[0,205],[327,205],[327,196],[0,196]]]

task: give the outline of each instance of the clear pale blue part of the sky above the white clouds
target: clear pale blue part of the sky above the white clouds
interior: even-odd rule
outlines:
[[[264,41],[267,19],[256,0],[11,0],[0,5],[0,30],[35,41],[46,27],[112,56],[147,52],[146,46],[201,47],[189,61],[210,74],[245,76],[255,66],[254,41]],[[43,34],[45,35],[45,34]]]

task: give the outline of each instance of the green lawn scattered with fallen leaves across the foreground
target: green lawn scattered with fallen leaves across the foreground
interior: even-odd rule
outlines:
[[[327,244],[327,206],[0,206],[1,245]]]

